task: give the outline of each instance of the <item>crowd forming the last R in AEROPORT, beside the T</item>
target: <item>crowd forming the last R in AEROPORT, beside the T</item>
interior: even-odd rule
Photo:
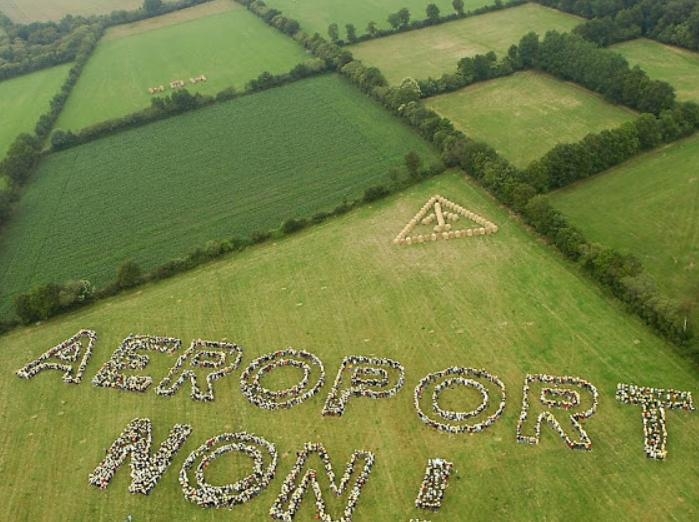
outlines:
[[[529,395],[532,383],[553,385],[553,386],[576,386],[578,388],[583,388],[590,392],[592,397],[592,406],[587,410],[569,413],[568,416],[573,425],[573,428],[578,432],[580,438],[579,440],[573,440],[566,433],[561,426],[561,423],[556,419],[556,417],[550,411],[541,412],[536,418],[536,424],[534,426],[534,435],[525,435],[525,424],[529,418]],[[545,389],[553,389],[551,386],[545,386]],[[555,396],[551,396],[551,392],[546,392],[542,390],[541,400],[545,395],[551,396],[547,402],[543,402],[549,408],[563,409],[569,411],[572,408],[571,398],[577,397],[577,403],[580,404],[580,394],[576,390],[571,390],[570,388],[556,388],[558,390]],[[573,392],[573,393],[571,393]],[[590,382],[581,379],[580,377],[573,377],[570,375],[556,376],[556,375],[527,375],[524,379],[524,386],[522,388],[522,411],[519,414],[519,422],[517,423],[517,442],[522,442],[526,444],[538,444],[541,439],[541,424],[542,422],[548,423],[558,435],[565,441],[570,449],[580,449],[580,450],[591,450],[592,441],[587,435],[587,432],[583,428],[580,421],[587,419],[592,416],[595,411],[597,411],[597,405],[599,404],[599,393],[597,388]],[[577,394],[577,395],[576,395]]]

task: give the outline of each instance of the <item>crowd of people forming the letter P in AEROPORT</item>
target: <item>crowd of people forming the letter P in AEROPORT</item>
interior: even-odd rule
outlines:
[[[392,386],[388,370],[393,370],[393,373],[398,374],[398,378]],[[343,379],[347,372],[350,372],[349,385],[345,386]],[[335,383],[323,406],[322,414],[340,417],[345,412],[350,397],[369,399],[395,397],[404,384],[405,368],[398,361],[384,357],[349,355],[342,360],[340,370],[335,377]]]

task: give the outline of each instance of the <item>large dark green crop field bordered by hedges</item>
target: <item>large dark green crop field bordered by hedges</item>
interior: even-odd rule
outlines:
[[[332,210],[428,145],[336,76],[309,79],[49,156],[0,242],[1,309],[49,281],[113,279],[210,239]]]

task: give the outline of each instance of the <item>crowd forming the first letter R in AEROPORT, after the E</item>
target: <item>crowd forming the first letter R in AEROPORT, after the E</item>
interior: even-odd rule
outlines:
[[[170,369],[167,376],[158,384],[155,393],[163,397],[170,397],[189,380],[192,384],[191,397],[193,400],[202,402],[213,401],[214,382],[237,369],[242,357],[243,350],[236,344],[197,339],[192,342],[185,353],[180,355],[175,366]],[[186,364],[189,364],[190,369],[182,371]],[[194,371],[195,368],[217,370],[207,374],[205,392],[202,392],[199,387],[197,375]]]

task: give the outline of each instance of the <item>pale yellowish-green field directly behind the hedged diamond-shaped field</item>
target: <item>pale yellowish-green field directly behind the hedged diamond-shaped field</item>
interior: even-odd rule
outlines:
[[[474,16],[446,24],[409,31],[387,38],[369,40],[350,47],[352,54],[366,64],[377,66],[391,83],[403,78],[418,79],[456,71],[465,56],[495,51],[507,53],[512,44],[530,31],[567,32],[580,19],[542,7],[525,4],[503,11]]]

